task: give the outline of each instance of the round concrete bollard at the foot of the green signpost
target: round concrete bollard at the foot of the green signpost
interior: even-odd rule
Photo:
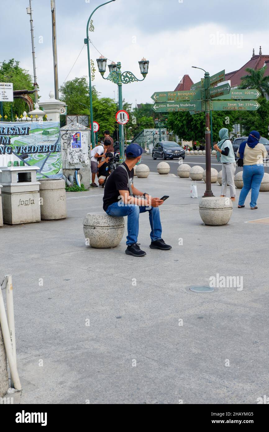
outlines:
[[[233,213],[230,198],[206,197],[199,202],[199,213],[205,225],[226,225]]]

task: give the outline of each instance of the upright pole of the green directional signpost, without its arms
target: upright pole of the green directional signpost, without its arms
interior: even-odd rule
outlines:
[[[206,89],[206,191],[203,197],[214,197],[211,190],[211,143],[210,143],[210,99],[209,72],[205,72],[204,89]]]

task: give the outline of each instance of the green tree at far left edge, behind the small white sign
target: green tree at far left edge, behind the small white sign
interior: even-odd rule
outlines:
[[[13,58],[9,61],[0,63],[0,82],[13,83],[13,90],[34,90],[33,79],[28,70],[22,69],[19,66],[19,61]],[[35,100],[34,95],[29,95],[32,100]],[[23,111],[29,111],[28,105],[20,98],[14,99],[14,102],[3,103],[3,114],[7,115],[8,120],[11,120],[11,107],[13,115],[20,116]]]

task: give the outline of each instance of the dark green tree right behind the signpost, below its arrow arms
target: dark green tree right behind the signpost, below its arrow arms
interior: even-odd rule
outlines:
[[[237,121],[237,113],[232,111],[212,111],[213,140],[218,141],[218,132],[222,127],[232,131]],[[168,115],[168,127],[184,141],[205,139],[205,113],[193,114],[189,112],[176,112]]]

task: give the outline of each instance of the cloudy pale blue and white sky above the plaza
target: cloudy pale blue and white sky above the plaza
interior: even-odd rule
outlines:
[[[2,2],[0,61],[15,58],[32,73],[28,0]],[[100,3],[56,0],[59,86],[84,45],[89,15]],[[39,94],[47,99],[54,89],[51,2],[32,0],[32,9]],[[268,0],[115,0],[95,12],[95,31],[89,37],[105,57],[121,61],[122,71],[131,70],[138,78],[138,61],[149,60],[145,81],[123,86],[123,97],[135,105],[136,100],[151,102],[153,92],[174,90],[185,73],[198,81],[203,71],[192,66],[210,74],[231,72],[250,59],[253,48],[258,54],[262,45],[263,54],[269,54],[268,16]],[[98,51],[90,46],[97,69],[93,84],[101,96],[114,98],[115,91],[117,98],[117,86],[98,72]],[[88,75],[86,46],[68,79],[83,75]]]

